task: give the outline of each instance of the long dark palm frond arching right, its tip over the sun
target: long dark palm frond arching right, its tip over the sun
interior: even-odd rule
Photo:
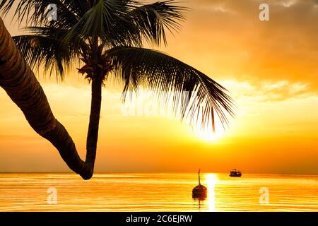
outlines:
[[[151,49],[114,47],[107,51],[114,66],[115,78],[125,83],[124,92],[145,85],[165,101],[171,93],[173,108],[181,110],[182,119],[201,119],[201,126],[215,129],[216,115],[228,124],[227,113],[233,115],[232,99],[222,85],[192,66]],[[181,94],[180,94],[181,92]],[[187,100],[183,93],[186,93]]]

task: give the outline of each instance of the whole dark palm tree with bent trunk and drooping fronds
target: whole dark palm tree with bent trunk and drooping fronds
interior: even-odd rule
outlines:
[[[13,40],[30,67],[42,66],[46,73],[63,78],[70,66],[81,64],[78,72],[92,85],[85,162],[69,133],[54,118],[45,93],[2,22],[0,85],[33,129],[47,138],[83,179],[93,175],[102,85],[110,76],[124,84],[124,93],[143,86],[158,95],[164,93],[165,101],[172,93],[187,92],[188,101],[182,95],[173,98],[173,107],[179,107],[182,119],[201,119],[202,125],[211,124],[213,129],[216,114],[223,124],[228,122],[226,112],[232,114],[232,101],[225,88],[192,66],[143,48],[145,44],[167,44],[166,30],[179,30],[187,8],[175,6],[174,0],[146,5],[135,0],[2,0],[0,11],[6,15],[15,4],[14,17],[19,23],[28,21],[28,35]],[[57,6],[57,21],[47,20],[49,4]]]

